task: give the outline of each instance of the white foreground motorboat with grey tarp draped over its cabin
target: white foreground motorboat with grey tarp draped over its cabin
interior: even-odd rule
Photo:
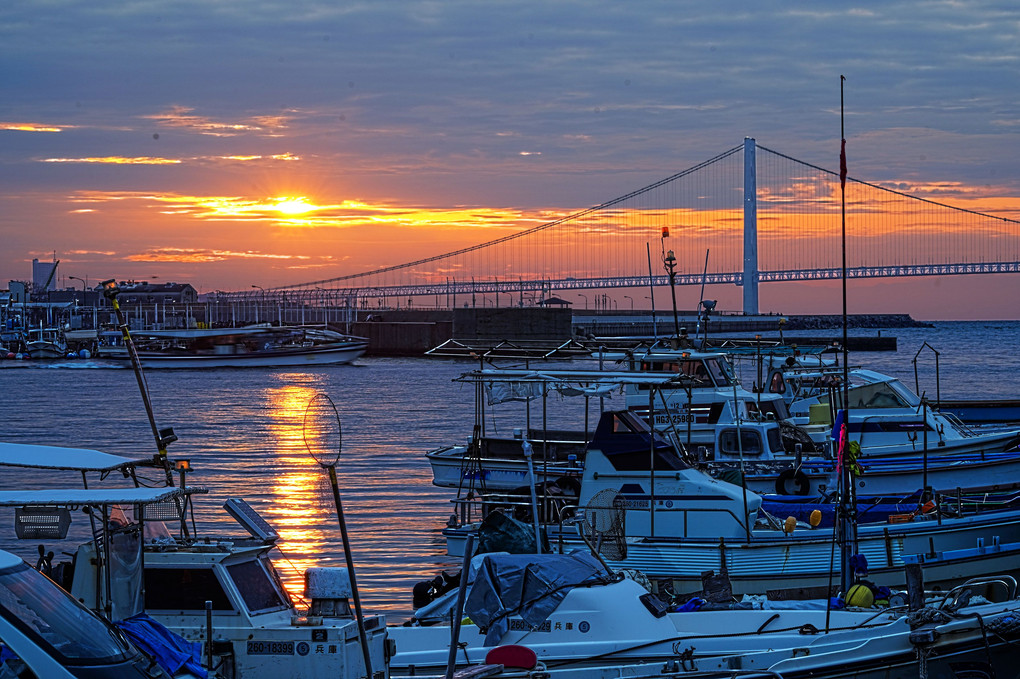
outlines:
[[[453,590],[420,609],[415,626],[391,630],[394,675],[442,672],[451,639],[458,668],[524,659],[522,674],[563,679],[1013,676],[1016,668],[1020,602],[1010,577],[839,610],[762,597],[678,607],[580,553],[483,555],[465,580],[463,612]]]

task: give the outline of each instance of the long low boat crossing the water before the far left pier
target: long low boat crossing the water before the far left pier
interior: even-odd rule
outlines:
[[[350,363],[368,349],[365,337],[305,326],[144,330],[133,332],[132,338],[146,369],[336,365]],[[98,356],[130,360],[120,344],[101,345]]]

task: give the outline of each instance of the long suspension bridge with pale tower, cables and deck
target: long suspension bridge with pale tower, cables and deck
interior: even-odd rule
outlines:
[[[850,278],[1020,272],[1018,220],[852,176],[845,192]],[[759,283],[843,276],[840,211],[838,172],[746,139],[638,191],[478,245],[218,297],[357,309],[373,298],[474,306],[486,295],[498,306],[503,294],[516,306],[558,291],[726,283],[742,286],[744,312],[757,314]]]

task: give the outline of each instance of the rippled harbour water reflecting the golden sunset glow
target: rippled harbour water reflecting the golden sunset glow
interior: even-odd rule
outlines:
[[[942,397],[1020,398],[1018,322],[937,323],[883,334],[898,337],[897,352],[860,353],[851,362],[897,375],[913,388],[912,359],[927,342],[939,352]],[[917,365],[920,389],[934,399],[934,354],[925,351]],[[189,484],[210,490],[198,501],[200,531],[230,524],[240,532],[220,507],[227,498],[246,499],[280,533],[276,561],[295,592],[304,568],[344,564],[325,475],[303,435],[309,401],[317,393],[328,395],[343,423],[337,469],[364,607],[399,621],[410,613],[415,582],[457,565],[446,557],[440,534],[452,493],[431,485],[424,453],[470,435],[473,388],[453,380],[473,367],[451,360],[363,358],[356,365],[303,370],[153,371],[146,379],[157,422],[172,426],[180,437],[170,446],[171,457],[189,458]],[[155,450],[130,370],[5,362],[0,387],[0,440],[133,457]],[[551,404],[550,411],[557,407]],[[571,408],[564,418],[579,412]],[[540,411],[532,407],[532,423],[541,421]],[[507,406],[497,413],[497,426],[523,427],[520,412]],[[557,413],[549,416],[570,424]],[[79,483],[74,475],[0,471],[4,489]],[[12,537],[13,513],[0,514],[0,546],[33,559],[36,543]],[[78,524],[84,523],[74,526],[83,538],[85,526]],[[48,546],[59,552],[59,545]]]

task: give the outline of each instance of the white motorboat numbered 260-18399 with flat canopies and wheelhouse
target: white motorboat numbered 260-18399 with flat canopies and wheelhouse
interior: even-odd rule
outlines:
[[[19,536],[27,539],[61,538],[70,510],[88,510],[93,539],[78,545],[72,561],[47,568],[89,608],[111,620],[139,612],[152,616],[200,642],[207,667],[223,678],[365,676],[347,569],[309,569],[311,607],[298,611],[269,559],[277,535],[243,501],[232,500],[225,509],[247,535],[200,536],[189,530],[188,519],[192,499],[203,488],[123,487],[145,462],[92,450],[0,443],[0,466],[73,470],[83,477],[97,472],[121,480],[121,487],[92,482],[86,488],[0,491],[0,507],[15,508]],[[385,618],[364,617],[364,632],[373,677],[384,677]]]

